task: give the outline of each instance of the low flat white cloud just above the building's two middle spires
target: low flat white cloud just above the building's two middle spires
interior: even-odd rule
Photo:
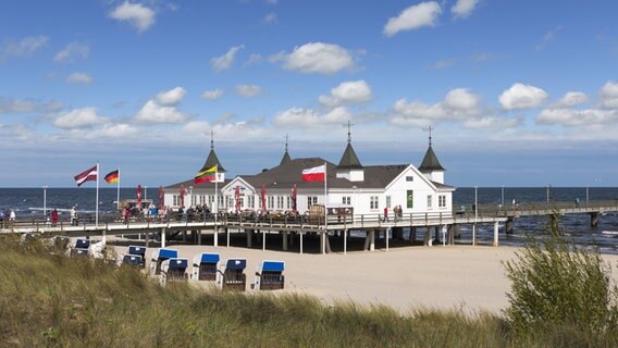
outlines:
[[[276,114],[273,123],[277,126],[304,128],[339,125],[349,120],[351,115],[343,107],[325,114],[320,114],[312,109],[292,108]]]

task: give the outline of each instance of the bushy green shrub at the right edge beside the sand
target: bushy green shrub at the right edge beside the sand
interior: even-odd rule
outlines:
[[[504,263],[511,281],[507,322],[519,333],[556,332],[555,337],[616,335],[618,290],[609,281],[609,264],[597,249],[549,232],[541,240],[531,238],[516,260]]]

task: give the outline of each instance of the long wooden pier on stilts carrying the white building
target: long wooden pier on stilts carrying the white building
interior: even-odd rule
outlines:
[[[477,210],[474,210],[474,208]],[[589,214],[592,226],[598,223],[604,213],[618,212],[618,200],[613,201],[588,201],[581,204],[573,202],[536,202],[516,204],[510,207],[496,204],[466,206],[454,209],[454,214],[419,213],[401,214],[384,219],[382,214],[327,214],[312,215],[254,215],[254,214],[220,214],[215,221],[211,215],[206,221],[162,221],[158,217],[132,219],[128,222],[119,221],[111,216],[100,219],[97,226],[94,222],[83,221],[73,226],[69,222],[59,222],[51,226],[45,220],[22,219],[14,222],[4,222],[2,233],[36,234],[42,236],[64,235],[69,237],[90,236],[119,236],[143,235],[146,245],[151,238],[148,235],[159,236],[161,246],[164,247],[168,236],[183,234],[186,240],[190,234],[190,240],[202,245],[202,235],[212,236],[212,245],[219,246],[220,235],[225,236],[225,245],[230,246],[231,234],[246,235],[247,247],[254,247],[254,239],[261,241],[262,249],[267,248],[267,238],[279,235],[282,240],[282,249],[287,250],[288,245],[294,243],[294,237],[299,243],[299,251],[304,252],[304,237],[307,235],[319,236],[320,252],[331,251],[330,236],[339,236],[343,240],[343,252],[347,252],[347,240],[350,233],[366,234],[363,250],[375,250],[376,235],[383,235],[384,247],[390,248],[390,240],[401,239],[403,229],[409,228],[410,244],[420,244],[416,240],[417,232],[424,232],[422,245],[432,246],[435,243],[454,244],[455,236],[461,225],[472,227],[472,245],[475,245],[475,232],[479,225],[490,225],[494,229],[493,246],[499,246],[498,232],[504,227],[505,233],[512,233],[515,220],[523,216],[559,216],[565,214]],[[556,219],[556,217],[553,217]],[[433,234],[433,236],[432,236]]]

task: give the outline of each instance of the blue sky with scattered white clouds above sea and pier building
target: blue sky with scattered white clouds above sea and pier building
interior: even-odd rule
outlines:
[[[21,0],[0,5],[0,187],[226,177],[293,158],[446,184],[618,185],[618,1]],[[85,186],[92,186],[92,183]],[[106,186],[104,182],[101,184]]]

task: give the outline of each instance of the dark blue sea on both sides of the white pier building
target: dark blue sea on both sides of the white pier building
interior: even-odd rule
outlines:
[[[135,188],[121,188],[120,199],[136,198]],[[113,214],[115,212],[116,188],[99,189],[99,213]],[[618,201],[616,187],[458,187],[454,195],[454,211],[460,206],[474,203],[474,196],[479,204],[509,204],[514,199],[520,203],[552,201],[584,202],[590,200]],[[153,199],[158,202],[157,189],[146,189],[144,199]],[[50,211],[57,209],[60,213],[69,215],[75,207],[81,215],[92,214],[96,208],[96,188],[0,188],[0,210],[13,209],[17,219],[42,217],[44,206]],[[548,216],[527,216],[515,220],[515,231],[506,235],[500,226],[500,246],[523,246],[530,236],[547,235]],[[590,225],[589,214],[567,214],[559,219],[560,231],[578,245],[596,246],[603,253],[618,254],[618,213],[609,212],[600,216],[598,225]],[[493,225],[480,225],[477,231],[477,240],[481,245],[492,245]],[[468,225],[461,226],[459,243],[471,243],[472,231]]]

